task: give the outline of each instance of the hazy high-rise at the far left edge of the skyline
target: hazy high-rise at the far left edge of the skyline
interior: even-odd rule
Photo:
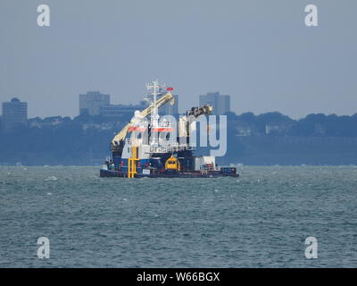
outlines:
[[[10,102],[3,103],[3,130],[9,131],[28,120],[28,104],[13,97]]]

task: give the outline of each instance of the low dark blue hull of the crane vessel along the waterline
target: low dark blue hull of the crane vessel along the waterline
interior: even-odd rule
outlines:
[[[105,177],[119,177],[128,178],[128,172],[112,171],[112,170],[100,170],[100,176]],[[150,174],[136,173],[135,178],[218,178],[218,177],[238,177],[237,173],[224,173],[219,171],[212,172],[156,172]]]

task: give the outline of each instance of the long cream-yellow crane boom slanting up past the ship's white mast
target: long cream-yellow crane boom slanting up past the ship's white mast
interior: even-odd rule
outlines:
[[[173,105],[175,102],[174,97],[171,95],[170,92],[167,92],[164,96],[160,97],[156,101],[156,108],[161,107],[162,105],[165,105],[170,101],[170,104]],[[145,118],[148,115],[152,114],[154,111],[154,104],[149,105],[147,108],[145,108],[140,114],[140,118]],[[128,135],[129,133],[129,128],[134,125],[133,120],[131,120],[127,125],[124,126],[122,130],[118,134],[115,135],[115,137],[112,139],[112,151],[115,151],[117,147],[120,146],[120,142],[122,142]]]

